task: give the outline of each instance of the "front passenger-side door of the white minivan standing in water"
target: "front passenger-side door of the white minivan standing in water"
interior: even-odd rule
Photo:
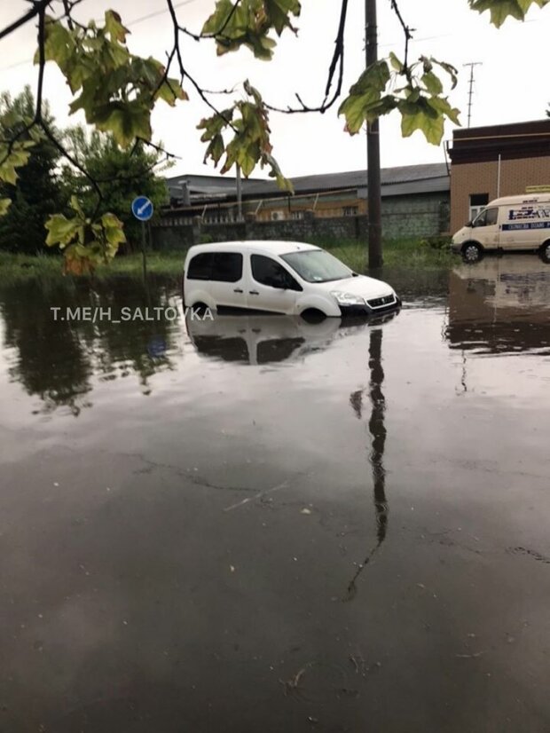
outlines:
[[[250,255],[248,308],[273,313],[295,313],[301,286],[273,257]]]

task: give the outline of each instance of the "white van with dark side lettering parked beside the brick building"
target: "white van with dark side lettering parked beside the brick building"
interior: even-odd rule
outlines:
[[[452,238],[468,262],[489,249],[531,249],[550,262],[550,193],[495,199]]]

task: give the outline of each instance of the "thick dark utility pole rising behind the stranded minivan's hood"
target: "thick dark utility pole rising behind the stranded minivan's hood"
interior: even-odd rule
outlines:
[[[365,0],[366,66],[378,60],[378,28],[376,0]],[[382,266],[382,201],[380,175],[380,124],[367,122],[366,127],[367,188],[368,188],[368,266]]]

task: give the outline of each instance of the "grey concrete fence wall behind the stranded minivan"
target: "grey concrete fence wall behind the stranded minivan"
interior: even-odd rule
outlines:
[[[184,220],[185,221],[185,220]],[[422,238],[446,233],[449,201],[444,193],[386,199],[382,202],[385,239]],[[167,212],[153,226],[153,248],[185,249],[204,241],[232,240],[365,240],[368,217],[315,217],[306,211],[303,219],[206,224],[200,217],[181,223],[176,213]]]

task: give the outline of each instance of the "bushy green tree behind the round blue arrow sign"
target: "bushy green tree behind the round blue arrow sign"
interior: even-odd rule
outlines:
[[[136,196],[145,195],[153,201],[156,211],[168,203],[168,188],[160,174],[171,162],[163,162],[159,150],[145,149],[140,140],[131,149],[124,149],[117,145],[113,133],[92,130],[89,134],[83,125],[66,130],[65,140],[68,152],[80,164],[80,169],[70,164],[63,166],[61,178],[67,193],[77,196],[89,216],[113,213],[122,221],[130,247],[138,246],[141,225],[131,214],[131,202]],[[98,182],[99,201],[89,177],[81,169]]]

